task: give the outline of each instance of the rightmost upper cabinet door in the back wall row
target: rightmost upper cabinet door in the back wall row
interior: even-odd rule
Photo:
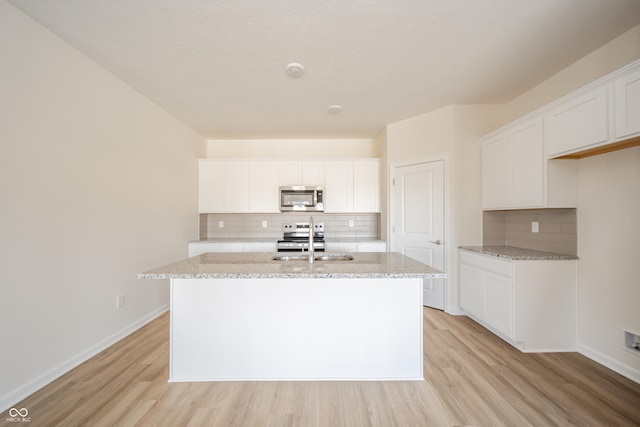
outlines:
[[[353,162],[353,211],[380,212],[380,162]]]

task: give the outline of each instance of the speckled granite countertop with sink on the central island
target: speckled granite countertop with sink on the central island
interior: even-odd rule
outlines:
[[[317,253],[325,255],[330,252]],[[446,278],[399,253],[352,253],[352,261],[274,261],[283,253],[206,253],[138,274],[139,279]]]

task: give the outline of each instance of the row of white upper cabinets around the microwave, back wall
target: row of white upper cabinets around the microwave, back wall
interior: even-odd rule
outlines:
[[[280,211],[281,185],[325,187],[327,212],[380,212],[380,160],[201,159],[200,213]]]

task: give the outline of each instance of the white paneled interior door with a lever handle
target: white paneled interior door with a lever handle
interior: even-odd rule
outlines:
[[[444,161],[393,169],[394,252],[444,271]],[[444,310],[444,279],[423,281],[423,304]]]

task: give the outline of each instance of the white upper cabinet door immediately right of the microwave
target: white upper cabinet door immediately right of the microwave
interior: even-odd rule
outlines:
[[[353,162],[325,163],[325,212],[353,212]]]

